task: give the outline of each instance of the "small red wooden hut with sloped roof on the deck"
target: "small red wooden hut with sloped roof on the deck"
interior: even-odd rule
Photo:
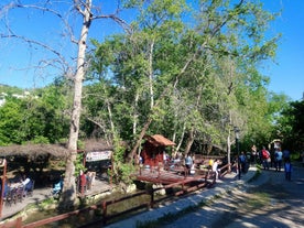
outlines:
[[[161,134],[145,135],[144,139],[141,158],[143,159],[143,164],[150,165],[150,167],[159,166],[160,163],[163,163],[165,148],[175,145],[174,142]]]

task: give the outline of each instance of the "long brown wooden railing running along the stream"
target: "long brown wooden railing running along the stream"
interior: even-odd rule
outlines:
[[[229,166],[230,166],[230,164],[227,164],[227,165],[221,167],[220,176],[224,176],[229,172],[229,170],[230,170]],[[211,180],[211,182],[208,182],[208,180]],[[110,219],[113,219],[116,217],[126,215],[128,213],[138,211],[139,209],[142,209],[142,208],[153,208],[154,204],[160,202],[160,199],[154,198],[155,192],[158,192],[160,189],[172,188],[172,187],[175,187],[177,185],[182,185],[182,189],[174,194],[175,196],[178,196],[178,195],[184,195],[184,194],[197,191],[197,189],[199,189],[202,187],[205,187],[205,186],[209,186],[209,184],[213,185],[215,182],[216,182],[215,181],[215,175],[214,175],[213,172],[209,171],[209,172],[206,173],[205,182],[200,182],[200,183],[198,182],[196,185],[194,185],[192,187],[186,188],[185,187],[186,182],[185,183],[173,183],[173,184],[160,186],[158,188],[153,188],[151,191],[141,191],[141,192],[138,192],[138,193],[134,193],[134,194],[131,194],[131,195],[128,195],[128,196],[120,197],[118,199],[104,200],[98,205],[93,205],[93,206],[89,206],[89,207],[86,207],[86,208],[83,208],[83,209],[77,209],[77,210],[74,210],[74,211],[70,211],[70,213],[57,215],[57,216],[54,216],[54,217],[51,217],[51,218],[45,218],[45,219],[34,221],[34,222],[31,222],[31,224],[26,224],[26,225],[22,225],[22,217],[19,217],[15,220],[11,220],[11,221],[0,224],[0,228],[35,228],[35,227],[52,224],[52,222],[55,222],[55,221],[59,221],[59,220],[63,220],[63,219],[67,219],[72,216],[77,216],[79,214],[87,213],[87,211],[90,211],[90,210],[100,210],[100,211],[102,211],[101,213],[102,216],[101,216],[100,219],[95,219],[94,221],[91,221],[89,224],[86,224],[86,226],[87,225],[94,225],[94,224],[106,225]],[[111,215],[108,214],[108,207],[110,205],[115,205],[115,204],[118,204],[118,203],[121,203],[123,200],[128,200],[130,198],[141,196],[141,195],[149,195],[150,200],[149,202],[141,202],[140,205],[138,205],[135,207],[132,207],[132,208],[129,208],[129,209],[126,209],[121,213],[111,214]],[[163,197],[161,200],[167,199],[170,197],[171,196]]]

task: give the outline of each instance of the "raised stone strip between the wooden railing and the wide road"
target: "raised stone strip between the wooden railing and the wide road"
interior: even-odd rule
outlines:
[[[208,202],[216,196],[222,195],[227,192],[234,191],[235,188],[243,185],[249,180],[251,180],[257,172],[256,167],[250,167],[248,173],[238,180],[238,175],[235,173],[226,174],[225,177],[218,180],[213,188],[203,189],[197,192],[197,194],[183,197],[176,202],[167,203],[167,205],[161,205],[159,208],[151,209],[146,213],[142,213],[132,216],[126,220],[118,221],[116,224],[110,224],[106,226],[107,228],[134,228],[139,224],[144,224],[146,221],[155,221],[166,215],[174,215],[178,211],[186,209],[188,207],[198,206],[204,202]],[[185,225],[184,227],[189,227]]]

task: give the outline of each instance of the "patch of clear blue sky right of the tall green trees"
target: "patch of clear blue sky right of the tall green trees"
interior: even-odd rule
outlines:
[[[269,89],[283,93],[293,100],[300,100],[304,93],[304,1],[303,0],[264,0],[265,9],[278,11],[282,15],[271,25],[271,30],[282,33],[276,51],[275,64],[265,66],[270,76]]]

